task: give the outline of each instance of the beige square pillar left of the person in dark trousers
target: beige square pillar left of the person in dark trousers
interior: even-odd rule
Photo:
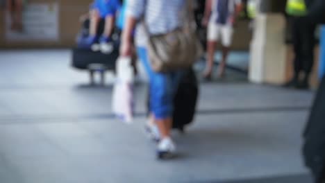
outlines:
[[[249,80],[255,83],[285,82],[285,17],[281,13],[260,13],[255,20],[250,46]]]

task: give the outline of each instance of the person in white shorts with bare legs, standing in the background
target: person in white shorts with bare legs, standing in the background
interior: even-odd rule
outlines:
[[[222,44],[222,62],[219,64],[218,76],[224,76],[226,58],[233,40],[233,24],[242,8],[241,0],[207,0],[203,25],[208,26],[207,62],[203,78],[210,80],[217,43]]]

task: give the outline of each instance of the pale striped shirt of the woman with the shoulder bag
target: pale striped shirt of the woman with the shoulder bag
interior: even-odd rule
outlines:
[[[142,19],[152,35],[182,26],[186,0],[129,0],[126,15]]]

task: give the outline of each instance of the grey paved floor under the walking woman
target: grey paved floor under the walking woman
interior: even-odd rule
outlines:
[[[196,120],[174,133],[178,159],[159,162],[142,130],[145,85],[135,122],[120,123],[112,87],[88,87],[69,56],[0,52],[0,182],[310,182],[300,147],[313,92],[202,83]]]

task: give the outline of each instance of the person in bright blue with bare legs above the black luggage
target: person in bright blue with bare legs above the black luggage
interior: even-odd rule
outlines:
[[[111,41],[110,36],[115,27],[115,15],[120,6],[119,0],[94,0],[90,10],[90,37],[88,37],[88,44],[92,45],[94,51],[99,49],[104,53],[110,51],[108,43]],[[103,34],[97,35],[101,20],[105,22]]]

